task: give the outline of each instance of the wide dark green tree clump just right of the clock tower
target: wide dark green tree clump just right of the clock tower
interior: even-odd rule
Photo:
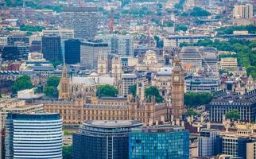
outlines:
[[[198,107],[211,102],[212,95],[207,92],[188,92],[184,94],[184,105]]]

